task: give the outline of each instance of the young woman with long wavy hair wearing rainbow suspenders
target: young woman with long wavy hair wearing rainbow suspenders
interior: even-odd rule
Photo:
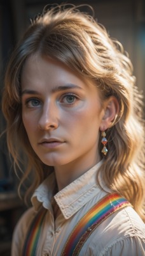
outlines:
[[[75,6],[50,8],[27,29],[3,95],[20,187],[31,180],[25,198],[33,193],[13,256],[145,255],[144,134],[134,84],[121,44]]]

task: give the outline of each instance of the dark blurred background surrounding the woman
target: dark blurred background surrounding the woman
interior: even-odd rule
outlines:
[[[31,19],[43,11],[46,4],[90,4],[95,18],[103,24],[109,35],[118,39],[128,52],[134,65],[137,86],[145,95],[145,1],[144,0],[88,0],[43,1],[0,0],[0,87],[3,90],[4,70],[13,47]],[[83,7],[85,12],[91,11]],[[0,109],[0,132],[5,121]],[[11,234],[15,223],[25,210],[17,196],[17,184],[6,148],[6,136],[0,138],[0,255],[10,255]]]

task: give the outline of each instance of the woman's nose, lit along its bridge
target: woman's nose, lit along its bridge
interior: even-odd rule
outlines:
[[[59,126],[59,109],[55,102],[46,102],[41,109],[38,127],[41,130],[53,130]]]

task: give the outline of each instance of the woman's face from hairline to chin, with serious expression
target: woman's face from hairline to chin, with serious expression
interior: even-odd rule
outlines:
[[[63,63],[31,56],[22,70],[22,120],[49,166],[93,166],[104,116],[97,88]]]

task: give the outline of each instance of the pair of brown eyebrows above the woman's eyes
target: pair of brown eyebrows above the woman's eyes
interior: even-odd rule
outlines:
[[[52,93],[69,90],[69,89],[74,89],[74,88],[83,90],[83,88],[79,87],[76,84],[66,84],[65,86],[57,86],[57,87],[53,88]],[[39,92],[37,92],[36,90],[25,89],[24,91],[22,91],[21,95],[24,95],[24,94],[39,94]]]

